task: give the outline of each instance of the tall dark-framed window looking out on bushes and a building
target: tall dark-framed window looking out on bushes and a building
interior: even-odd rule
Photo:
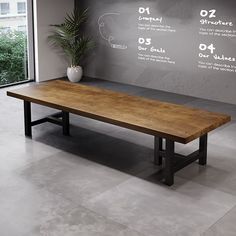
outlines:
[[[34,79],[32,3],[0,0],[0,88]]]

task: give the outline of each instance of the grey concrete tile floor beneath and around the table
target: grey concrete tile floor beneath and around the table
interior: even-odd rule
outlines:
[[[31,140],[23,134],[22,102],[0,89],[0,235],[235,236],[236,106],[102,80],[83,83],[225,112],[233,121],[210,134],[208,166],[192,164],[169,188],[157,180],[153,137],[71,116],[71,137],[44,124]],[[33,106],[34,118],[51,112]],[[177,149],[187,153],[196,145]]]

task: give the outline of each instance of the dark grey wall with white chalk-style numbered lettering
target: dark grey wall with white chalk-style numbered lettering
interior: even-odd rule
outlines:
[[[236,104],[235,0],[80,0],[85,74]]]

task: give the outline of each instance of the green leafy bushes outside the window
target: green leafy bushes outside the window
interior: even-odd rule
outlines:
[[[26,40],[24,32],[0,31],[0,86],[26,80]]]

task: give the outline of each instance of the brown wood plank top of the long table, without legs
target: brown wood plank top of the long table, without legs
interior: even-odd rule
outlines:
[[[63,80],[29,85],[7,95],[184,144],[231,120],[225,114]]]

